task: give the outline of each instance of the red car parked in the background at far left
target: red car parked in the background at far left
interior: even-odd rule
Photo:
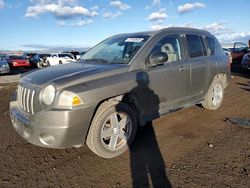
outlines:
[[[7,57],[7,61],[10,65],[10,68],[31,67],[29,60],[23,56],[10,55]]]

